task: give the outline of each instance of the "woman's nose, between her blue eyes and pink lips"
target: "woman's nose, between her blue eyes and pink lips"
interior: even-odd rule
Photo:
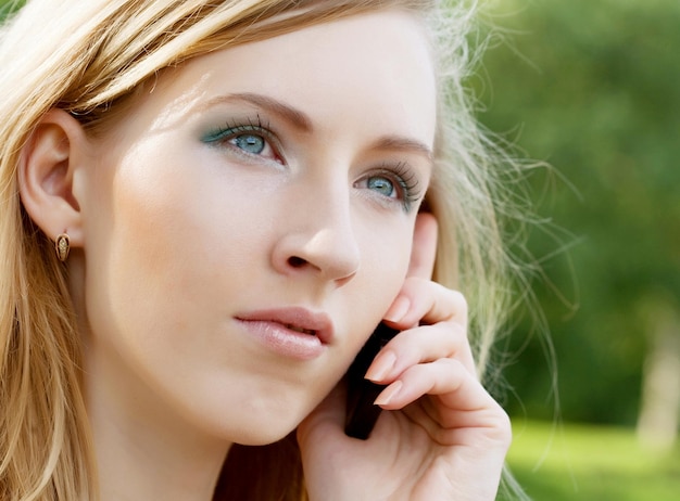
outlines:
[[[317,190],[310,196],[308,190],[304,192],[305,196],[297,197],[285,210],[272,255],[274,268],[287,275],[312,274],[341,286],[352,280],[361,262],[349,193]]]

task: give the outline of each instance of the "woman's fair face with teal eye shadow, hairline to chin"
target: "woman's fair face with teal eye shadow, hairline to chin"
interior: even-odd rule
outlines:
[[[292,429],[403,283],[435,87],[389,11],[162,73],[74,180],[88,390],[234,441]]]

